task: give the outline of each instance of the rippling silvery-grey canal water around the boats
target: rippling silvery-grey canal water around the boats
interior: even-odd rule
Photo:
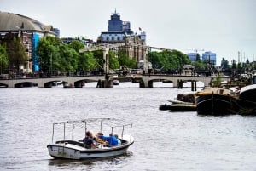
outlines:
[[[0,89],[0,170],[256,170],[256,117],[160,111],[159,105],[190,88],[156,84]],[[50,157],[52,123],[88,117],[133,123],[135,143],[127,154],[83,161]]]

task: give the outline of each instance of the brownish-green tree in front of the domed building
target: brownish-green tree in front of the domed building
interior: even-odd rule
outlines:
[[[9,43],[9,49],[9,64],[10,66],[16,66],[17,71],[20,71],[20,65],[28,60],[26,48],[21,43],[20,37],[14,37],[14,40]]]

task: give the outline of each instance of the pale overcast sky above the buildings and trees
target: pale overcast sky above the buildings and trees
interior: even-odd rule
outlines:
[[[147,45],[183,53],[217,54],[256,60],[256,0],[0,0],[0,11],[26,15],[60,29],[61,37],[84,36],[96,41],[108,31],[114,11],[147,34]]]

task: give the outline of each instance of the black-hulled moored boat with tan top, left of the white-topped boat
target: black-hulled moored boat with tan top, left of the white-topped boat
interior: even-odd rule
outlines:
[[[239,111],[237,95],[230,89],[204,88],[195,95],[199,115],[230,115]]]

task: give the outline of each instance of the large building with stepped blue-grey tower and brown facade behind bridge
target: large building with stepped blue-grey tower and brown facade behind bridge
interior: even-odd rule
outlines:
[[[131,30],[130,21],[122,21],[116,11],[111,14],[110,18],[111,20],[108,20],[108,31],[101,33],[97,43],[125,44],[119,47],[125,50],[125,54],[137,60],[137,62],[143,60],[146,50],[146,32],[140,29],[140,34],[134,33]]]

